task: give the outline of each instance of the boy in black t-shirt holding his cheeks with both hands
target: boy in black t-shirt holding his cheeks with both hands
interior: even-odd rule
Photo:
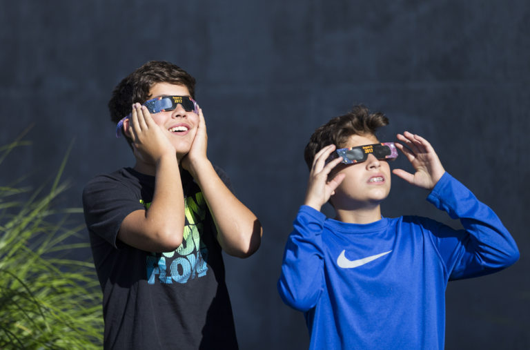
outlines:
[[[136,164],[83,193],[105,347],[237,349],[222,250],[252,255],[262,227],[206,157],[195,79],[150,61],[118,84],[109,108]]]

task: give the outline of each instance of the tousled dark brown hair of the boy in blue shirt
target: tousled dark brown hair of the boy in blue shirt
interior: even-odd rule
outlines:
[[[362,104],[353,106],[345,115],[335,117],[315,130],[304,150],[304,159],[311,169],[319,150],[334,144],[343,148],[351,135],[374,135],[378,128],[389,124],[383,113],[370,113]]]

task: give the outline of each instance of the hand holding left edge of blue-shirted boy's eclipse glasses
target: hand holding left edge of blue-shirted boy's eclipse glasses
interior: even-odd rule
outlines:
[[[333,144],[319,150],[315,155],[315,159],[313,159],[313,166],[309,173],[304,204],[315,208],[317,211],[320,211],[320,208],[328,202],[329,197],[335,194],[335,188],[340,185],[346,176],[344,174],[337,174],[333,179],[328,181],[328,175],[331,173],[331,170],[342,161],[341,157],[337,157],[326,164],[326,159],[328,159],[334,150],[335,145]]]

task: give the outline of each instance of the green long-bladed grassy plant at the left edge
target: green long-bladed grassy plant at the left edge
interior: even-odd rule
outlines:
[[[1,147],[0,164],[27,144],[19,137]],[[101,348],[101,289],[94,265],[70,258],[88,248],[80,235],[82,210],[52,206],[68,188],[60,182],[67,157],[46,193],[44,184],[34,192],[0,186],[0,349]]]

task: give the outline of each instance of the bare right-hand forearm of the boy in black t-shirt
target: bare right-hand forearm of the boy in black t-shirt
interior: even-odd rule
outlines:
[[[192,175],[212,213],[222,249],[237,257],[248,257],[257,251],[262,237],[261,224],[226,187],[212,164],[207,159],[194,164]]]

